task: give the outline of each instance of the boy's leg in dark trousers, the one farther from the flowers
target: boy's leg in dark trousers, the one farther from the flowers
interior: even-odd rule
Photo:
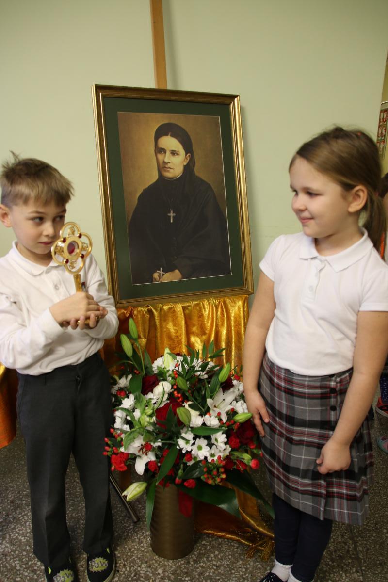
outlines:
[[[65,506],[74,427],[72,387],[59,370],[36,377],[19,375],[17,407],[26,441],[34,554],[46,569],[72,569]]]

